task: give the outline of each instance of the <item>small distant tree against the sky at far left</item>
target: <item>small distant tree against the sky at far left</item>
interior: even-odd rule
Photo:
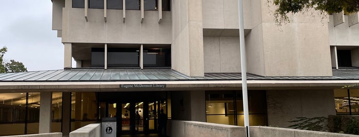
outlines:
[[[10,62],[4,61],[3,57],[7,51],[8,49],[6,47],[0,49],[0,73],[27,72],[27,69],[22,62],[13,59],[11,59]]]

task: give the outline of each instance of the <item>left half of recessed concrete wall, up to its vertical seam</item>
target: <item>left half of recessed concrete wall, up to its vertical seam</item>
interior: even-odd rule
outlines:
[[[219,37],[203,37],[204,73],[220,73]]]

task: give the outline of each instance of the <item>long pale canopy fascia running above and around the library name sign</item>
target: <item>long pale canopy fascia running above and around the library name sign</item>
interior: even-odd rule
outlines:
[[[249,80],[249,89],[340,89],[345,85],[359,88],[359,80]],[[165,84],[166,88],[120,88],[121,84]],[[119,82],[0,82],[0,92],[28,92],[34,90],[73,91],[151,91],[151,90],[233,90],[240,88],[240,80],[223,81],[119,81]]]

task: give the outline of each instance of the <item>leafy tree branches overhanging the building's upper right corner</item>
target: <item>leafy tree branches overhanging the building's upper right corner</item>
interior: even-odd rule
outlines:
[[[274,11],[275,21],[280,25],[281,22],[288,22],[288,13],[298,13],[309,9],[315,9],[322,14],[331,14],[344,11],[353,13],[359,11],[358,0],[267,0],[277,6]]]

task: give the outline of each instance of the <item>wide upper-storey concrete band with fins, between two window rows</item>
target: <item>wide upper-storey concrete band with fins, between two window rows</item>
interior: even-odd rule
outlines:
[[[171,12],[163,11],[158,23],[158,11],[145,11],[141,24],[141,11],[107,10],[107,22],[103,9],[88,9],[88,21],[84,8],[63,9],[62,42],[84,43],[155,43],[171,44]]]

